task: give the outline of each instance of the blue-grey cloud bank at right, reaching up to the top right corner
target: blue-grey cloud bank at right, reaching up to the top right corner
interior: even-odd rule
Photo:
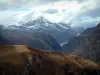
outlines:
[[[92,8],[82,8],[70,22],[76,26],[92,27],[100,22],[100,1],[96,0],[96,6]],[[94,4],[95,4],[94,3]],[[85,9],[85,11],[83,11]]]

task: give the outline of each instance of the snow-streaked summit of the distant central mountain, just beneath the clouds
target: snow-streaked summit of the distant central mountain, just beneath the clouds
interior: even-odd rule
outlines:
[[[13,26],[16,27],[16,26]],[[16,28],[29,28],[29,29],[69,29],[70,27],[66,23],[53,23],[45,19],[43,16],[38,17],[37,19],[31,20],[27,23],[23,23],[22,25]]]

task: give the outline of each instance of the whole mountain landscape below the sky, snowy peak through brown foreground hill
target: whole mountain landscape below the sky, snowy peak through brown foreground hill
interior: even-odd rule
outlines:
[[[0,25],[0,75],[100,75],[99,59],[100,23],[85,31],[43,17]]]

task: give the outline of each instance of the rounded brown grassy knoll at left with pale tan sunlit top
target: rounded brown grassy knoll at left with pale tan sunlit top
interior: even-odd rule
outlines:
[[[13,72],[20,71],[24,67],[31,52],[22,45],[0,46],[0,68]]]

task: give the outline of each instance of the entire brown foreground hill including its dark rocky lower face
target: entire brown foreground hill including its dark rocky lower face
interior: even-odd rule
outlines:
[[[99,75],[100,65],[82,57],[24,45],[0,46],[0,75]]]

